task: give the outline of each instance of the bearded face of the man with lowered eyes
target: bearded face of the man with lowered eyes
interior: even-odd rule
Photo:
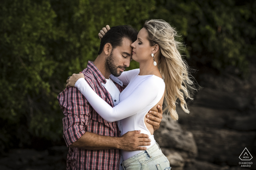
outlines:
[[[116,77],[120,76],[132,60],[132,41],[123,38],[122,46],[116,47],[106,58],[106,67]]]

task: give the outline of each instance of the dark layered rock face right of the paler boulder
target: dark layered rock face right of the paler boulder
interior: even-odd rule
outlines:
[[[204,162],[188,168],[193,163],[185,159],[184,170],[221,169],[223,164],[230,170],[244,169],[238,157],[245,147],[253,157],[250,169],[256,169],[256,82],[234,76],[206,77],[204,85],[208,86],[189,103],[190,114],[177,110],[182,129],[191,131],[196,141],[196,161]]]

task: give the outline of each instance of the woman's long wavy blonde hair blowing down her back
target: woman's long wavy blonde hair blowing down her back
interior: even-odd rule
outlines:
[[[143,28],[148,32],[150,45],[158,44],[160,56],[158,68],[165,80],[165,110],[170,112],[173,120],[178,120],[176,112],[176,100],[180,100],[181,108],[189,113],[185,99],[192,98],[189,96],[188,87],[193,84],[189,77],[189,67],[185,60],[182,59],[179,50],[183,44],[176,41],[177,32],[164,20],[148,20]]]

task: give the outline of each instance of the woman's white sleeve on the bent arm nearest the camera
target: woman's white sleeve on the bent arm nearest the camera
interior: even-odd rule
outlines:
[[[86,97],[94,110],[106,121],[115,122],[136,114],[146,107],[158,94],[159,80],[153,76],[145,79],[127,98],[111,107],[87,84],[84,78],[78,79],[75,87]]]

